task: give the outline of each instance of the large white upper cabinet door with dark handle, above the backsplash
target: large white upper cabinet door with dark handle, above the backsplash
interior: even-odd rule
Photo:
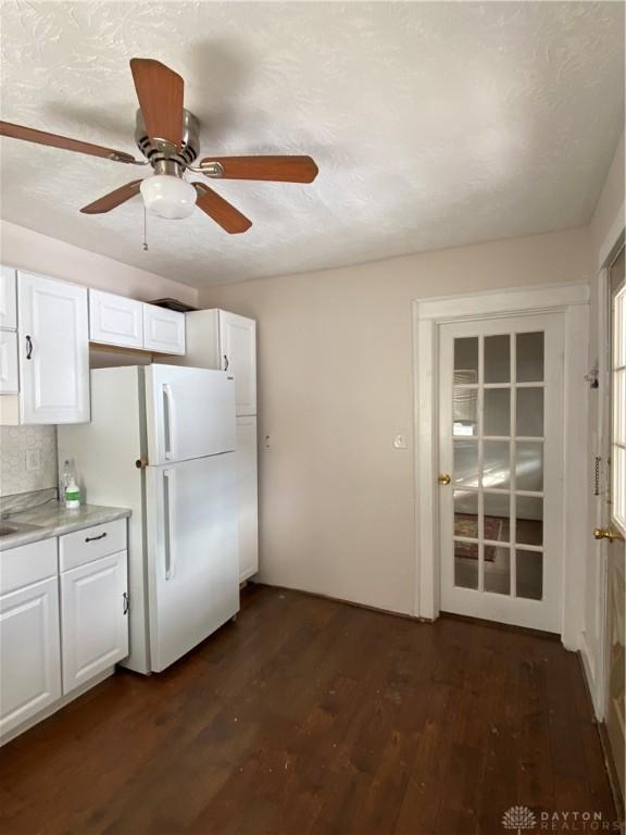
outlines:
[[[18,273],[22,423],[89,420],[87,288]]]

